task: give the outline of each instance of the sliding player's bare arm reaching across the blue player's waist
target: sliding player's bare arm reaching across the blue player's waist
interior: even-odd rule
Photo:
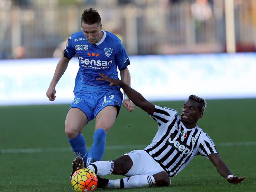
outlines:
[[[127,96],[131,99],[131,101],[143,109],[143,111],[147,112],[149,115],[153,115],[155,105],[150,103],[148,100],[146,100],[140,93],[138,93],[136,90],[132,89],[128,84],[126,84],[124,81],[119,79],[113,79],[109,78],[108,76],[99,73],[99,75],[102,78],[97,78],[96,80],[100,81],[108,81],[110,84],[109,86],[117,86],[120,85],[120,87],[124,90],[124,92],[127,94]]]

